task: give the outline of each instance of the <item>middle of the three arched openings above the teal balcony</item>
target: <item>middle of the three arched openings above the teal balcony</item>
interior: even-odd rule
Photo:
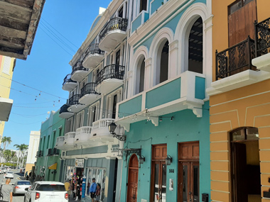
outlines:
[[[156,62],[156,84],[160,84],[168,80],[168,40],[163,40],[158,48]]]

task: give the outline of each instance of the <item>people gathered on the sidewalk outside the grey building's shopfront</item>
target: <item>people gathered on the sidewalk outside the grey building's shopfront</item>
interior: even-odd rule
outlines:
[[[75,176],[72,179],[65,182],[65,190],[68,191],[68,196],[78,201],[82,198],[82,177]],[[90,186],[90,197],[92,202],[100,201],[100,190],[101,186],[96,183],[96,179],[92,179],[92,184]]]

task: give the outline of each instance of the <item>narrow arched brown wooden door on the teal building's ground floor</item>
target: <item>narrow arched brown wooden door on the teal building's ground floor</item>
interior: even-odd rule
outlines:
[[[137,201],[138,172],[139,172],[138,157],[137,155],[132,155],[129,159],[129,176],[128,176],[126,201],[129,202]]]

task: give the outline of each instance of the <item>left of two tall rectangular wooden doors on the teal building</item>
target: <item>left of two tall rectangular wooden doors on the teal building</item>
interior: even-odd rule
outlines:
[[[152,164],[151,164],[151,196],[150,201],[166,201],[166,176],[167,167],[165,159],[167,157],[167,145],[152,146]]]

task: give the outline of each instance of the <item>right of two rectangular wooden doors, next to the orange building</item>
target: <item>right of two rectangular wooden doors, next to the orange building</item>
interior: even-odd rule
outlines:
[[[178,145],[178,202],[200,201],[199,142]]]

